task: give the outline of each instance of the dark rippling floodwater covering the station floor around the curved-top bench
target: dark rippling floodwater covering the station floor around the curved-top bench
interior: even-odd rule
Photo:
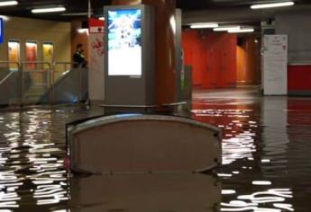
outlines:
[[[65,125],[100,114],[1,110],[0,211],[311,211],[311,99],[197,91],[192,118],[223,128],[214,174],[71,176]]]

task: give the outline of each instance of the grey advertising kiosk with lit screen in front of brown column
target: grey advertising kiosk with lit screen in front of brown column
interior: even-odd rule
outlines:
[[[154,15],[149,5],[105,7],[105,106],[152,107]]]

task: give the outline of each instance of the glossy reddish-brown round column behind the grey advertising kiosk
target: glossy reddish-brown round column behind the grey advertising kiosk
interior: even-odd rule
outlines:
[[[158,104],[176,102],[176,0],[113,0],[113,4],[150,4],[155,7],[156,76],[155,91]]]

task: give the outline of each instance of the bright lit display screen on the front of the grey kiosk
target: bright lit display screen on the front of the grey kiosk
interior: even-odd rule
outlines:
[[[142,11],[108,11],[108,75],[142,75]]]

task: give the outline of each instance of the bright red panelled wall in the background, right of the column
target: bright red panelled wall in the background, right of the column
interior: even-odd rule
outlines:
[[[236,44],[233,34],[183,31],[185,64],[193,67],[193,84],[202,88],[235,87]]]

